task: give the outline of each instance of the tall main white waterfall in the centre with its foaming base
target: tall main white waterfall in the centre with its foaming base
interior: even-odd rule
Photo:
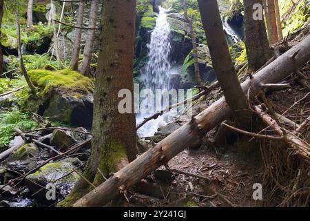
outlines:
[[[170,26],[167,21],[167,10],[159,6],[159,14],[156,19],[156,26],[151,34],[151,39],[147,48],[149,49],[147,63],[141,70],[141,82],[144,88],[150,89],[153,92],[156,89],[169,89],[169,71],[171,64],[169,61],[169,54],[171,50],[170,44]],[[156,97],[161,99],[161,97]],[[156,111],[160,108],[156,107]],[[137,124],[141,123],[144,117],[151,114],[137,115]],[[171,115],[164,114],[157,119],[152,119],[141,128],[138,129],[138,135],[141,137],[152,136],[160,126],[165,126]]]

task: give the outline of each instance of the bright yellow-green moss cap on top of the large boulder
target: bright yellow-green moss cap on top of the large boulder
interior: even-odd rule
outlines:
[[[58,90],[71,95],[86,95],[94,90],[94,81],[80,73],[70,70],[31,70],[28,72],[34,86],[40,88],[39,96],[47,95],[50,90]]]

